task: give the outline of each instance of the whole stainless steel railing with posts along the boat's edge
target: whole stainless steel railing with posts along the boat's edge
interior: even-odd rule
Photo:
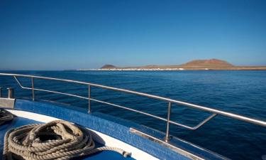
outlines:
[[[187,128],[187,129],[195,130],[195,129],[198,129],[199,127],[201,127],[202,125],[204,125],[206,122],[208,122],[210,119],[215,117],[217,114],[225,116],[225,117],[230,117],[230,118],[233,118],[233,119],[238,119],[240,121],[244,121],[244,122],[248,122],[248,123],[252,123],[252,124],[257,124],[257,125],[260,125],[262,127],[266,127],[266,122],[262,121],[262,120],[253,119],[253,118],[250,118],[250,117],[244,117],[242,115],[233,114],[233,113],[230,113],[230,112],[224,112],[224,111],[221,111],[221,110],[216,110],[216,109],[212,109],[212,108],[209,108],[209,107],[204,107],[204,106],[201,106],[201,105],[194,105],[194,104],[191,104],[191,103],[188,103],[188,102],[182,102],[182,101],[179,101],[179,100],[172,100],[172,99],[169,99],[169,98],[166,98],[166,97],[150,95],[150,94],[143,93],[143,92],[135,92],[135,91],[132,91],[132,90],[124,90],[124,89],[120,89],[120,88],[116,88],[116,87],[108,87],[108,86],[105,86],[105,85],[96,85],[94,83],[80,82],[80,81],[77,81],[77,80],[65,80],[65,79],[59,79],[59,78],[47,78],[47,77],[34,76],[34,75],[19,75],[19,74],[9,74],[9,73],[0,73],[0,75],[12,76],[16,80],[16,82],[18,82],[18,85],[21,88],[26,89],[26,90],[31,90],[32,99],[33,100],[35,100],[35,90],[43,91],[43,92],[51,92],[51,93],[56,93],[56,94],[60,94],[60,95],[67,95],[67,96],[71,96],[71,97],[77,97],[77,98],[81,98],[81,99],[84,99],[84,100],[88,100],[88,112],[89,113],[92,112],[92,110],[91,110],[91,101],[94,101],[94,102],[99,102],[99,103],[103,103],[103,104],[106,104],[106,105],[111,105],[113,107],[119,107],[119,108],[123,108],[125,110],[130,110],[132,112],[145,114],[145,115],[147,115],[149,117],[153,117],[155,119],[160,119],[162,121],[165,121],[167,123],[166,131],[165,131],[165,142],[168,142],[169,139],[170,139],[170,124],[174,124],[174,125],[177,125],[177,126],[180,126],[180,127]],[[21,84],[20,80],[18,80],[18,77],[31,78],[31,87],[24,87]],[[79,95],[73,95],[73,94],[65,93],[65,92],[57,92],[57,91],[53,91],[53,90],[43,90],[43,89],[35,88],[34,87],[34,79],[55,80],[55,81],[61,81],[61,82],[71,82],[71,83],[76,83],[76,84],[80,84],[80,85],[87,85],[88,86],[88,97],[82,97],[82,96],[79,96]],[[119,91],[119,92],[126,92],[126,93],[131,93],[133,95],[140,95],[140,96],[143,96],[143,97],[148,97],[148,98],[151,98],[151,99],[162,100],[162,101],[168,102],[167,118],[158,117],[158,116],[156,116],[154,114],[150,114],[150,113],[147,113],[147,112],[142,112],[142,111],[139,111],[139,110],[134,110],[134,109],[129,108],[129,107],[124,107],[124,106],[121,106],[121,105],[115,105],[115,104],[113,104],[111,102],[104,102],[104,101],[101,101],[101,100],[96,100],[96,99],[91,97],[91,91],[92,91],[91,88],[92,87],[99,87],[99,88],[103,88],[103,89],[106,89],[106,90],[115,90],[115,91]],[[174,121],[171,120],[172,104],[183,105],[183,106],[191,107],[191,108],[194,108],[194,109],[197,109],[197,110],[210,112],[212,114],[209,117],[207,117],[206,119],[204,119],[202,122],[197,124],[196,126],[190,127],[190,126],[187,126],[185,124],[180,124],[178,122],[174,122]]]

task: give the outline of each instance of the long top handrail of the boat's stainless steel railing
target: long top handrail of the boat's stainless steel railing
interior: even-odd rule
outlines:
[[[191,103],[188,103],[188,102],[172,100],[172,99],[169,99],[169,98],[160,97],[160,96],[156,96],[156,95],[150,95],[150,94],[143,93],[143,92],[135,92],[135,91],[120,89],[120,88],[116,88],[116,87],[108,87],[108,86],[104,86],[104,85],[96,85],[96,84],[93,84],[93,83],[80,82],[80,81],[77,81],[77,80],[65,80],[65,79],[59,79],[59,78],[45,78],[45,77],[35,76],[35,75],[19,75],[19,74],[9,74],[9,73],[0,73],[0,75],[20,76],[20,77],[25,77],[25,78],[40,78],[40,79],[45,79],[45,80],[57,80],[57,81],[62,81],[62,82],[73,82],[73,83],[82,84],[82,85],[91,85],[91,86],[94,86],[94,87],[101,87],[101,88],[104,88],[104,89],[107,89],[107,90],[116,90],[116,91],[120,91],[120,92],[127,92],[127,93],[131,93],[131,94],[134,94],[134,95],[141,95],[141,96],[150,97],[150,98],[153,98],[153,99],[156,99],[156,100],[163,100],[163,101],[167,101],[167,102],[176,103],[176,104],[179,104],[179,105],[184,105],[184,106],[187,106],[187,107],[192,107],[192,108],[197,109],[197,110],[203,110],[203,111],[206,111],[206,112],[212,112],[212,113],[215,113],[215,114],[220,114],[220,115],[223,115],[225,117],[231,117],[233,119],[238,119],[238,120],[241,120],[241,121],[257,124],[257,125],[260,125],[262,127],[266,127],[266,122],[258,120],[258,119],[252,119],[252,118],[249,118],[249,117],[244,117],[244,116],[241,116],[241,115],[238,115],[238,114],[233,114],[233,113],[230,113],[230,112],[224,112],[224,111],[221,111],[221,110],[216,110],[216,109],[212,109],[212,108],[204,107],[204,106],[200,106],[200,105],[194,105],[194,104],[191,104]]]

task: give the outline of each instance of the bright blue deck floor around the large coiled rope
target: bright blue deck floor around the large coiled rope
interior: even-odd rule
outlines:
[[[35,124],[40,123],[36,122],[32,119],[26,119],[23,117],[15,117],[11,122],[8,122],[6,124],[3,124],[0,126],[0,153],[2,155],[3,151],[3,144],[4,144],[4,134],[9,129],[15,128],[15,127],[21,127],[26,124]],[[96,146],[101,146],[101,144],[96,144]],[[0,156],[0,160],[2,157]],[[113,160],[121,160],[121,159],[128,159],[133,160],[131,157],[124,158],[121,154],[118,154],[115,151],[101,151],[96,154],[92,154],[89,156],[80,157],[78,159],[91,159],[91,160],[98,160],[98,159],[113,159]]]

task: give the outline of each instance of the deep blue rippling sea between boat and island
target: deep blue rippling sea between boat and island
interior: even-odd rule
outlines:
[[[174,100],[191,102],[266,121],[266,71],[1,71],[93,82]],[[29,79],[21,78],[31,86]],[[0,87],[14,87],[15,97],[29,98],[13,78],[0,77]],[[87,86],[35,80],[35,87],[87,96]],[[6,90],[4,90],[6,95]],[[36,98],[87,108],[86,100],[35,92]],[[166,117],[167,102],[92,87],[92,97]],[[104,112],[165,132],[165,122],[126,110],[92,102],[92,112]],[[209,114],[179,105],[172,106],[172,119],[197,124]],[[196,131],[170,126],[170,134],[231,159],[262,159],[266,154],[266,128],[217,116]]]

